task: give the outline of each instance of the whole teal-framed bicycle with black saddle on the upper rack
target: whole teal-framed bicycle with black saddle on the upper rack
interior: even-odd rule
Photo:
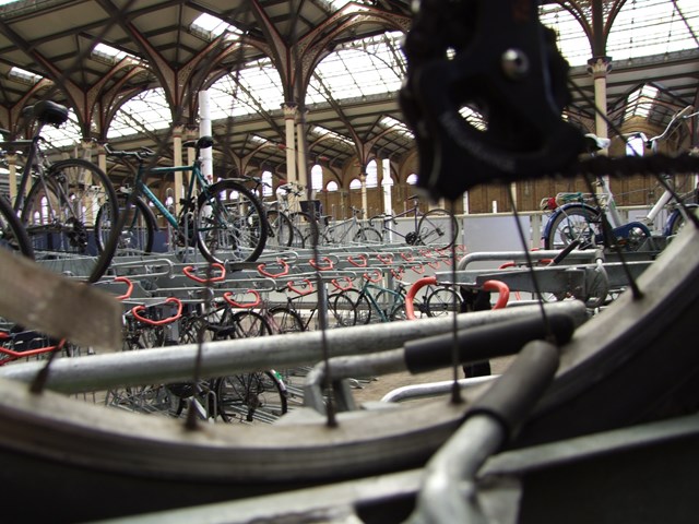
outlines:
[[[212,263],[250,262],[258,259],[268,238],[264,210],[259,200],[242,183],[234,179],[210,183],[201,170],[201,150],[212,147],[211,136],[201,136],[182,144],[194,147],[196,160],[189,166],[152,167],[155,153],[147,147],[139,151],[115,151],[105,144],[109,156],[129,158],[137,163],[132,188],[122,188],[125,205],[122,224],[116,238],[117,253],[150,253],[157,228],[151,203],[175,231],[173,242],[181,247],[197,245],[201,254]],[[147,175],[190,172],[180,210],[175,215],[145,184]],[[146,203],[147,202],[147,203]],[[100,214],[98,223],[106,223],[108,214]]]

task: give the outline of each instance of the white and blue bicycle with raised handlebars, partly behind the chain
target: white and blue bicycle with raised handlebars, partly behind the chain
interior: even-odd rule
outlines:
[[[635,135],[643,139],[645,146],[656,154],[660,141],[671,132],[677,122],[697,115],[687,115],[690,110],[691,106],[675,115],[657,136],[645,139],[643,133],[635,133]],[[607,144],[595,143],[594,148],[604,145]],[[664,179],[666,183],[670,181],[667,176]],[[684,206],[677,205],[674,192],[666,188],[641,221],[625,223],[617,210],[608,179],[597,176],[596,183],[600,188],[599,194],[559,193],[554,199],[542,200],[541,207],[544,211],[553,211],[542,235],[545,249],[564,249],[573,241],[580,242],[578,249],[596,246],[609,247],[612,238],[627,251],[638,251],[645,249],[644,247],[655,248],[657,245],[662,249],[667,239],[676,236],[685,225],[686,213],[698,207],[694,203],[685,203]],[[665,226],[660,234],[654,234],[652,228],[655,219],[668,205],[671,205],[671,212]]]

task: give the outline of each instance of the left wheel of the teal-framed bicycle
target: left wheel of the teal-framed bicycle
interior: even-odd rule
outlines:
[[[117,196],[120,216],[127,213],[127,199],[128,195],[126,194],[119,194]],[[152,252],[156,225],[155,217],[151,210],[149,210],[147,204],[141,199],[135,199],[123,219],[123,227],[119,234],[114,252],[115,257]],[[98,236],[100,238],[109,238],[115,224],[111,215],[108,213],[108,206],[103,205],[95,225]]]

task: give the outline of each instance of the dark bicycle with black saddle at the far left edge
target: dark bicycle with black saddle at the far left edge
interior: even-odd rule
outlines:
[[[0,204],[3,239],[58,273],[95,282],[111,260],[107,243],[110,230],[97,217],[117,218],[115,189],[107,175],[91,162],[68,158],[51,163],[42,151],[42,129],[66,123],[67,107],[42,100],[27,107],[24,115],[37,122],[33,136],[0,142],[7,148],[3,153],[25,151],[12,213],[4,202]],[[10,135],[7,130],[0,132]],[[26,236],[17,228],[16,216]]]

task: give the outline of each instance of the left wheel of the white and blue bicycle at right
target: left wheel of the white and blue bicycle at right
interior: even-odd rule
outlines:
[[[584,205],[570,205],[555,215],[544,238],[545,249],[564,249],[573,240],[579,240],[578,249],[596,246],[596,239],[602,238],[602,223],[600,214]]]

